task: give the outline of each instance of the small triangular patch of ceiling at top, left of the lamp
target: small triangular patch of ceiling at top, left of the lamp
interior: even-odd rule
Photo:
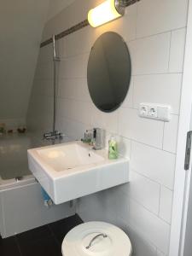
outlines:
[[[50,0],[47,20],[50,20],[55,15],[59,14],[61,10],[65,9],[68,5],[70,5],[74,1],[75,0]]]

